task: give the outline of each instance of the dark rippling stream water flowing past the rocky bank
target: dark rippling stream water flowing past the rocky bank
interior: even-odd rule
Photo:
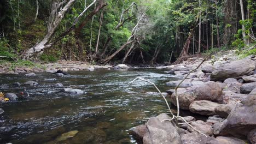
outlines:
[[[0,143],[136,143],[129,132],[149,117],[168,113],[164,100],[149,83],[136,81],[137,76],[154,82],[162,92],[167,81],[177,80],[164,69],[129,69],[73,71],[58,77],[39,73],[34,77],[0,75],[0,92],[19,95],[25,89],[28,98],[2,103]],[[55,78],[56,81],[44,81]],[[37,81],[39,86],[14,87],[18,81]],[[62,83],[63,87],[54,86]],[[71,95],[62,92],[71,87],[87,92]],[[172,106],[174,108],[174,106]],[[173,109],[175,112],[176,110]],[[182,112],[181,115],[187,115]],[[60,141],[63,133],[77,130],[74,137]],[[59,140],[59,141],[58,141]]]

